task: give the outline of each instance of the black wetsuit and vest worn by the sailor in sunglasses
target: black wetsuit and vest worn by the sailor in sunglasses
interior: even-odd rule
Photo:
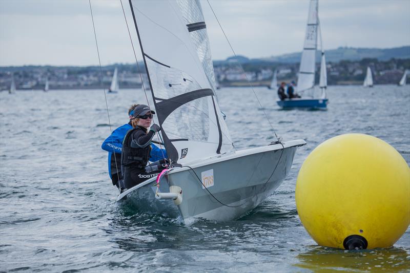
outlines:
[[[158,175],[159,171],[147,173],[145,167],[151,152],[151,139],[153,131],[137,126],[128,131],[122,143],[121,169],[124,174],[126,188],[133,187],[142,181]]]

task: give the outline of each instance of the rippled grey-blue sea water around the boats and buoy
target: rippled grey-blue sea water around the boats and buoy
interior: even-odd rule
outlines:
[[[115,203],[100,150],[110,133],[101,91],[0,93],[0,271],[410,271],[409,229],[389,249],[329,249],[309,237],[295,204],[304,158],[331,137],[370,134],[410,162],[410,87],[330,87],[328,111],[283,111],[274,92],[255,91],[262,107],[250,90],[218,92],[236,148],[275,140],[263,111],[284,141],[308,144],[249,215],[189,225]],[[140,90],[108,98],[112,129],[126,122],[133,98],[145,101]]]

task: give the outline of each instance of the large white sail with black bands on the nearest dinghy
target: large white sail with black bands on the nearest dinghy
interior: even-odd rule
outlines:
[[[214,87],[178,3],[131,3],[168,156],[186,163],[230,150]]]

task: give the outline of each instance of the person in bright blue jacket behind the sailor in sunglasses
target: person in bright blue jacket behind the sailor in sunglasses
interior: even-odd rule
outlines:
[[[115,129],[112,134],[104,140],[103,144],[101,145],[101,149],[108,152],[108,173],[112,180],[112,184],[116,185],[118,188],[124,188],[124,184],[122,183],[122,173],[121,173],[121,151],[122,151],[122,141],[124,141],[124,137],[127,132],[133,129],[131,124],[131,119],[134,117],[134,108],[136,108],[138,104],[133,104],[128,109],[128,116],[130,121],[117,129]],[[115,153],[115,154],[114,154]],[[155,144],[151,143],[151,153],[150,153],[150,161],[158,161],[163,158],[163,156],[167,157],[167,152],[165,149],[159,149]],[[118,182],[120,181],[120,183]]]

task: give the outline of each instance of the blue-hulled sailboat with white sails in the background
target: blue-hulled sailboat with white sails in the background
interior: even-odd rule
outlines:
[[[315,90],[315,61],[317,51],[317,38],[320,34],[321,62],[320,62],[320,94]],[[326,60],[322,45],[322,34],[318,17],[318,0],[311,0],[309,6],[308,24],[306,26],[306,36],[303,45],[302,58],[297,82],[297,92],[300,98],[286,98],[278,100],[277,103],[282,108],[313,108],[326,109],[329,99],[326,94],[327,74]]]

